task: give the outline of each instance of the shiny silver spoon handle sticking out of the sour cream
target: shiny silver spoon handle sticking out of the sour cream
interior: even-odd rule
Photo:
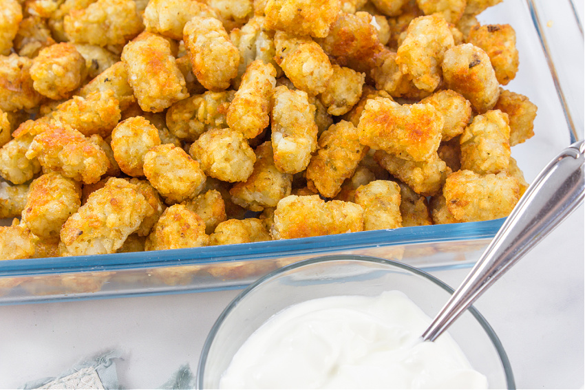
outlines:
[[[538,174],[496,237],[423,333],[433,341],[499,277],[583,201],[583,141],[564,149]]]

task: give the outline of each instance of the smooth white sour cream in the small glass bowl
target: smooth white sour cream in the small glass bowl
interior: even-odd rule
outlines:
[[[235,354],[222,389],[487,389],[448,335],[402,292],[332,296],[292,305]]]

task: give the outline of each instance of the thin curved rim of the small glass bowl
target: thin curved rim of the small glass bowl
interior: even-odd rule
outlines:
[[[263,277],[260,277],[254,283],[251,283],[251,285],[248,285],[248,287],[245,288],[244,290],[242,290],[242,292],[240,292],[240,294],[237,294],[237,296],[235,296],[235,298],[224,308],[224,310],[222,311],[220,316],[217,317],[217,320],[215,320],[215,323],[213,323],[213,327],[211,327],[209,334],[207,334],[207,336],[206,336],[205,343],[203,345],[203,349],[202,349],[201,354],[200,354],[198,368],[197,368],[197,376],[195,379],[195,384],[196,384],[195,388],[196,389],[204,389],[203,383],[202,383],[202,380],[203,380],[202,374],[204,373],[204,367],[205,367],[205,364],[207,361],[207,355],[209,354],[213,340],[215,340],[215,336],[217,335],[217,331],[220,329],[220,326],[222,325],[222,323],[224,323],[227,316],[234,310],[234,308],[238,305],[238,303],[240,303],[240,301],[242,301],[244,298],[246,298],[246,296],[248,296],[248,294],[252,290],[255,290],[259,285],[264,284],[264,282],[268,281],[269,279],[273,279],[273,278],[279,276],[279,274],[283,274],[284,272],[288,272],[290,270],[295,270],[297,268],[301,268],[304,266],[310,266],[310,265],[315,264],[315,263],[322,263],[325,261],[340,261],[340,260],[365,261],[365,262],[370,262],[370,263],[384,264],[387,266],[394,266],[394,267],[399,268],[401,270],[405,270],[407,272],[411,272],[413,274],[416,274],[419,277],[423,277],[423,278],[427,279],[428,281],[431,281],[432,283],[435,283],[436,285],[438,285],[438,287],[442,288],[443,290],[445,290],[449,294],[453,294],[455,291],[453,288],[449,287],[449,285],[447,285],[446,283],[444,283],[440,279],[437,279],[436,277],[432,276],[432,274],[429,274],[429,273],[427,273],[419,268],[409,266],[408,264],[401,263],[399,261],[387,260],[387,259],[382,259],[380,257],[373,257],[373,256],[362,255],[362,254],[330,254],[330,255],[326,255],[326,256],[311,257],[310,259],[297,261],[295,263],[288,264],[287,266],[277,268],[276,270],[273,270],[272,272],[268,272],[268,274],[265,274]],[[500,357],[500,361],[502,362],[502,366],[504,367],[504,375],[506,376],[507,388],[508,389],[515,389],[515,382],[514,382],[514,376],[512,373],[512,367],[511,367],[510,361],[508,359],[508,356],[506,354],[506,351],[504,350],[504,346],[502,345],[502,343],[500,341],[500,338],[498,338],[498,335],[496,335],[496,332],[494,332],[491,325],[489,325],[489,323],[484,318],[484,316],[482,316],[482,314],[480,314],[480,312],[478,312],[478,310],[473,305],[470,306],[467,310],[469,312],[471,312],[471,315],[473,315],[474,318],[476,318],[476,321],[478,321],[478,323],[481,325],[481,327],[485,330],[488,338],[491,340],[491,343],[496,348],[496,351],[498,352],[498,356]]]

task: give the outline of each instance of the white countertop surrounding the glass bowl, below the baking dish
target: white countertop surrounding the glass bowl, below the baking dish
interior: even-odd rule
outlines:
[[[584,206],[476,302],[507,351],[518,388],[584,384]],[[433,272],[456,288],[469,270]],[[56,376],[118,349],[120,385],[160,387],[196,371],[205,337],[238,291],[0,307],[0,388]]]

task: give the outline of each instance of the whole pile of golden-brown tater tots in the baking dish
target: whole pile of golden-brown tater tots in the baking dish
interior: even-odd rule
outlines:
[[[500,1],[0,0],[0,259],[507,216]]]

